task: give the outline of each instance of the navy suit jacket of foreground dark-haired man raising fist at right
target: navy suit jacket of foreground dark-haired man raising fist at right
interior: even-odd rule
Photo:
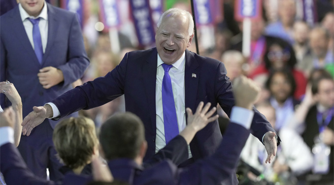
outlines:
[[[178,168],[169,160],[147,169],[129,159],[113,160],[108,165],[116,180],[134,185],[216,185],[226,184],[226,181],[230,184],[229,177],[235,174],[241,150],[248,136],[247,129],[231,122],[217,151],[212,156],[198,160],[186,168]]]

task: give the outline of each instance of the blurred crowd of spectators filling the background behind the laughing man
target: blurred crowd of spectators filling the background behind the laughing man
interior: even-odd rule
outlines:
[[[127,7],[128,1],[121,0]],[[282,142],[274,162],[265,164],[264,145],[250,135],[241,154],[240,184],[332,184],[334,182],[334,1],[315,0],[317,20],[304,20],[302,0],[263,0],[262,16],[251,20],[251,54],[242,53],[243,23],[233,17],[235,1],[223,3],[220,23],[197,27],[199,54],[224,63],[227,76],[246,75],[260,87],[255,107],[270,121]],[[138,46],[129,10],[121,12],[120,52],[113,53],[108,32],[98,32],[98,1],[87,0],[83,36],[90,65],[81,85],[112,71]],[[190,1],[168,1],[165,9],[191,12]],[[189,48],[196,52],[195,42]],[[140,59],[140,58],[139,58]],[[121,96],[101,107],[81,110],[98,129],[111,115],[125,112]],[[218,109],[222,117],[227,117]],[[220,119],[221,120],[221,119]],[[221,120],[220,127],[226,127]]]

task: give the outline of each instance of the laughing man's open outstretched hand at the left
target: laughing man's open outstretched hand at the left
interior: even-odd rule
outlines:
[[[22,122],[22,134],[29,136],[32,129],[42,124],[45,118],[53,116],[52,108],[49,104],[39,107],[33,107],[34,111],[30,112]]]

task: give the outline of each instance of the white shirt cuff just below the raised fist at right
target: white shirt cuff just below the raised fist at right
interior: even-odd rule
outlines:
[[[238,125],[250,129],[252,124],[254,112],[252,110],[234,106],[231,112],[231,122],[234,122]]]

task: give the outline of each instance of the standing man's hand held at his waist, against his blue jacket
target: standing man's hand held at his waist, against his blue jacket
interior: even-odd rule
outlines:
[[[64,75],[62,71],[49,66],[40,69],[40,72],[37,74],[40,83],[43,85],[43,88],[48,89],[58,83],[64,81]]]

